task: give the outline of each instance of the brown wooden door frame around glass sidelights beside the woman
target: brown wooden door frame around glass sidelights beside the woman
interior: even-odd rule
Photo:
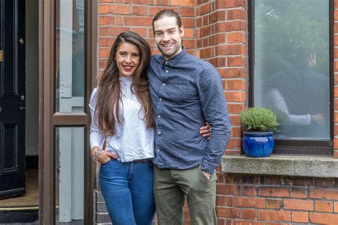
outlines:
[[[55,224],[55,128],[84,127],[84,224],[93,223],[93,190],[96,167],[89,150],[88,100],[96,85],[98,0],[85,0],[84,112],[55,112],[56,1],[39,0],[39,224]]]

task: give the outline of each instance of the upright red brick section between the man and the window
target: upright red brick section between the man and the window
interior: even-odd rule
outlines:
[[[238,113],[246,100],[246,11],[244,0],[198,0],[197,56],[212,63],[222,76],[232,125],[227,154],[240,154]]]

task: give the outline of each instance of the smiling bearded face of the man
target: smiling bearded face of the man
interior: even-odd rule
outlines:
[[[179,28],[176,18],[163,17],[154,21],[155,42],[166,60],[182,51],[183,27]]]

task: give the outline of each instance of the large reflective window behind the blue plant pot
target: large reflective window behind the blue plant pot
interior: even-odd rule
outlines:
[[[332,1],[248,2],[250,106],[276,113],[278,153],[332,154]]]

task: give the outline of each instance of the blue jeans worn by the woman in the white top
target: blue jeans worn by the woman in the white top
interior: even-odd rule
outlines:
[[[153,224],[153,163],[120,162],[101,164],[100,186],[113,225]]]

